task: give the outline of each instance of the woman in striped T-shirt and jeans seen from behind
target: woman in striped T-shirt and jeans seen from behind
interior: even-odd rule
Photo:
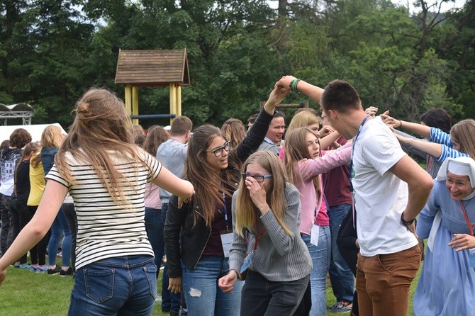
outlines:
[[[35,216],[0,259],[0,283],[6,267],[47,233],[69,192],[78,231],[68,315],[152,315],[157,266],[143,220],[145,184],[181,198],[193,186],[133,143],[125,106],[110,91],[86,91],[75,112]]]

